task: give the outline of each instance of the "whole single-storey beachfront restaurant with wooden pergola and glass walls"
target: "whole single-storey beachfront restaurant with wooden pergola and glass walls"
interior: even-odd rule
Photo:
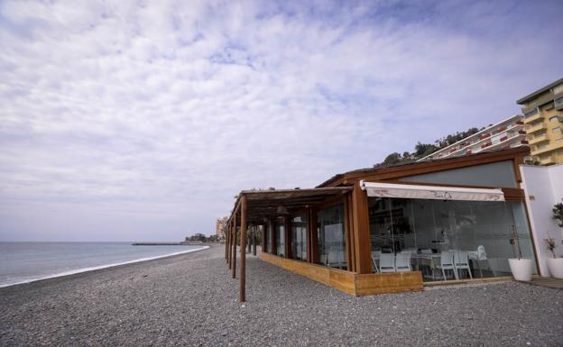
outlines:
[[[245,233],[260,259],[355,296],[510,276],[535,260],[519,165],[528,148],[338,174],[318,187],[245,190],[228,223],[226,262],[245,301]]]

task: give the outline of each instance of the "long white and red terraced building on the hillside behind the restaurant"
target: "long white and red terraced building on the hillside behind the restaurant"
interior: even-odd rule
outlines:
[[[480,132],[475,132],[456,143],[418,160],[437,160],[459,157],[487,151],[500,151],[514,147],[528,146],[524,117],[513,115],[502,122],[491,125]]]

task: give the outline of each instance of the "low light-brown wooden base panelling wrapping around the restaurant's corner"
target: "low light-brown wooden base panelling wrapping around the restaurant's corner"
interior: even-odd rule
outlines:
[[[358,274],[261,252],[260,259],[354,296],[422,290],[420,271]]]

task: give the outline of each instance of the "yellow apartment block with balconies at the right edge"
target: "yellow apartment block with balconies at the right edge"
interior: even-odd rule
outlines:
[[[563,163],[563,78],[516,102],[522,105],[531,159]]]

